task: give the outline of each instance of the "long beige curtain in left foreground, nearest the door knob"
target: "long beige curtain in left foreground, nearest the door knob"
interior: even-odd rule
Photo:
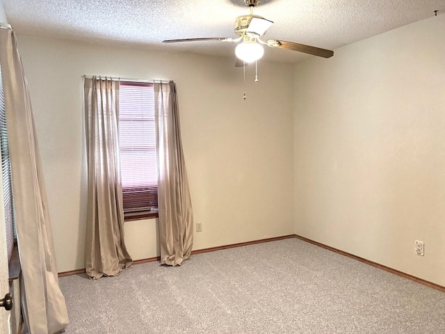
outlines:
[[[58,286],[42,164],[31,100],[15,34],[0,29],[0,62],[13,179],[17,241],[22,266],[22,310],[26,330],[56,333],[68,324]]]

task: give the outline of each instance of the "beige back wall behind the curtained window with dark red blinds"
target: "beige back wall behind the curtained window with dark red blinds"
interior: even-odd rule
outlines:
[[[195,221],[195,249],[292,234],[293,67],[19,36],[40,142],[58,271],[83,268],[83,74],[173,79]],[[156,256],[156,220],[125,224],[134,259]]]

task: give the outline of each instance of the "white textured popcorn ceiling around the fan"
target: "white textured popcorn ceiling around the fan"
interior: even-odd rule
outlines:
[[[236,37],[234,20],[249,13],[243,0],[1,0],[18,35],[83,40],[220,56],[227,42],[163,44],[162,40]],[[444,0],[262,0],[254,14],[275,24],[264,39],[337,49],[445,12]],[[442,32],[443,33],[443,32]],[[265,58],[296,62],[296,51],[266,47]]]

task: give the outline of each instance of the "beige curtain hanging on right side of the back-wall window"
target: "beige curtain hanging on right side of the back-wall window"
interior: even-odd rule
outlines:
[[[154,83],[161,264],[180,265],[193,246],[193,212],[175,83]]]

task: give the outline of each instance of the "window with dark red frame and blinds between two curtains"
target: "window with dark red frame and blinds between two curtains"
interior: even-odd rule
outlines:
[[[156,216],[156,162],[153,84],[120,82],[119,145],[125,220]]]

